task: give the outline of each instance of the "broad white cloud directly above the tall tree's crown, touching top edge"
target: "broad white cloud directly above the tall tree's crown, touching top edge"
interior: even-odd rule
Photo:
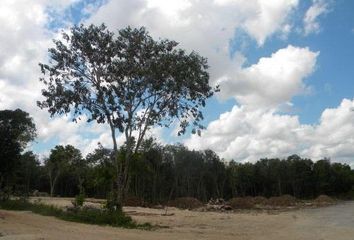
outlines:
[[[230,59],[229,43],[246,32],[259,45],[277,33],[291,29],[291,13],[297,0],[117,0],[89,18],[87,23],[106,23],[111,29],[145,26],[155,38],[169,38],[187,50],[208,58],[211,81],[237,67]],[[242,32],[241,31],[241,32]]]

